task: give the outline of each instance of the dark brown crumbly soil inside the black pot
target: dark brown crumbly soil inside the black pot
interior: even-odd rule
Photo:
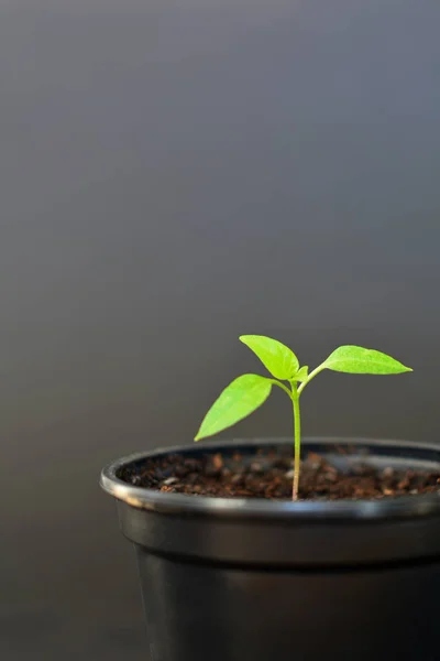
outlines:
[[[343,467],[310,453],[301,465],[300,498],[361,499],[431,494],[440,488],[440,472],[376,468],[351,460]],[[260,451],[252,456],[207,454],[194,458],[185,455],[147,459],[135,470],[124,469],[125,481],[147,489],[170,494],[223,498],[290,499],[293,486],[292,453]]]

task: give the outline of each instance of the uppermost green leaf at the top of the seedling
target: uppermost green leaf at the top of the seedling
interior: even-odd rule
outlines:
[[[264,335],[242,335],[240,340],[256,354],[264,367],[276,379],[293,379],[298,371],[298,358],[292,349],[277,339]]]

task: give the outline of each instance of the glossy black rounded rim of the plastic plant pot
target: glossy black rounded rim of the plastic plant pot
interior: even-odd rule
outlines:
[[[206,452],[211,454],[223,449],[238,449],[252,446],[292,444],[292,437],[233,438],[209,442]],[[301,441],[301,447],[308,445],[350,445],[360,448],[407,449],[408,455],[432,453],[440,463],[440,446],[433,443],[410,441],[352,438],[341,436],[308,436]],[[180,445],[135,453],[112,462],[101,472],[100,486],[105,491],[127,505],[163,514],[201,514],[227,519],[285,519],[285,520],[377,520],[414,519],[440,514],[440,489],[435,494],[391,496],[384,499],[363,500],[267,500],[264,498],[217,498],[188,494],[169,494],[135,487],[118,477],[119,470],[127,464],[167,454],[194,454],[201,452],[200,446]]]

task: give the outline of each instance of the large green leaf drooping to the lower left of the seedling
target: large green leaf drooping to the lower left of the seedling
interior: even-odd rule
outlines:
[[[234,379],[205,415],[195,441],[213,436],[253,413],[266,401],[272,386],[272,379],[257,375]]]

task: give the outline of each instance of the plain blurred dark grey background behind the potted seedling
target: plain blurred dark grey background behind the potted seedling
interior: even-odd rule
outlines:
[[[1,658],[147,658],[98,474],[190,442],[260,369],[241,333],[415,368],[320,377],[306,434],[438,440],[439,21],[438,0],[0,1]],[[285,404],[233,433],[288,434]]]

